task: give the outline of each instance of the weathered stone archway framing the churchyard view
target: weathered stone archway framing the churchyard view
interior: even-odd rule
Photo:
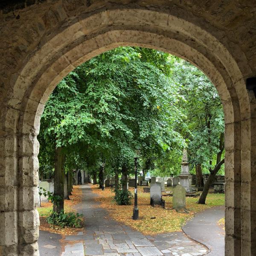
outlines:
[[[225,255],[241,256],[241,251],[253,255],[256,102],[253,92],[248,93],[245,87],[245,78],[253,71],[241,47],[229,44],[213,24],[165,3],[166,8],[162,4],[148,7],[109,3],[106,8],[99,5],[90,10],[86,6],[72,9],[65,1],[57,1],[52,9],[47,4],[35,7],[34,11],[42,12],[45,19],[38,20],[31,14],[34,23],[24,29],[24,42],[32,47],[24,49],[23,43],[21,48],[13,49],[12,58],[7,54],[8,63],[17,68],[10,72],[8,65],[3,65],[6,74],[1,76],[8,84],[0,96],[3,170],[0,188],[4,191],[0,193],[0,201],[4,202],[0,204],[0,251],[3,255],[39,254],[36,136],[49,94],[76,66],[121,45],[151,47],[177,55],[199,67],[215,84],[226,123]],[[33,8],[27,10],[27,15]],[[44,33],[40,34],[40,29]],[[33,40],[39,43],[33,46]],[[23,51],[26,58],[20,59]]]

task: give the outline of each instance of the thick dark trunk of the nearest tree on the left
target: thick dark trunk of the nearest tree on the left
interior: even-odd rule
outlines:
[[[60,196],[58,203],[54,202],[53,212],[64,209],[64,153],[61,147],[55,149],[54,163],[54,195]]]

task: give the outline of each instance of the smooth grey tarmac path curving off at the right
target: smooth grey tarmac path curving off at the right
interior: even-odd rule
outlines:
[[[211,252],[207,256],[224,256],[225,231],[217,222],[225,215],[225,207],[212,207],[195,214],[182,228],[192,239],[205,244]]]

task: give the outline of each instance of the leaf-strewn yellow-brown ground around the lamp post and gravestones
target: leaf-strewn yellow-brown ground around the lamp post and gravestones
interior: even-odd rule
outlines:
[[[187,212],[176,212],[176,210],[173,210],[172,197],[169,196],[163,197],[163,199],[166,201],[166,209],[159,207],[154,208],[150,206],[150,194],[143,193],[143,187],[138,187],[138,207],[140,219],[134,221],[131,219],[133,205],[116,205],[113,201],[114,193],[112,193],[110,188],[105,188],[105,190],[102,191],[98,188],[98,185],[93,185],[92,190],[94,193],[99,195],[95,198],[95,200],[101,203],[100,207],[108,210],[111,218],[148,235],[181,231],[181,226],[192,218],[195,212],[225,204],[224,194],[209,193],[207,195],[205,205],[197,204],[196,202],[198,201],[198,198],[186,198]],[[132,193],[134,192],[133,188],[129,190]]]

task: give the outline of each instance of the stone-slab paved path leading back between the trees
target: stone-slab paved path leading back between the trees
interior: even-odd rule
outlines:
[[[199,256],[208,251],[183,232],[144,236],[97,207],[99,203],[93,201],[97,195],[91,192],[90,185],[83,185],[82,191],[82,202],[76,209],[85,216],[85,230],[65,237],[62,256]]]

